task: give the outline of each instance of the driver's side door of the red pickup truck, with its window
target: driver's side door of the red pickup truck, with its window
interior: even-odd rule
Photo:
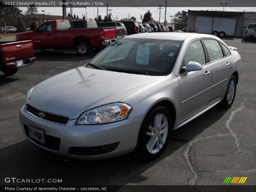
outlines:
[[[35,49],[52,49],[56,47],[53,22],[44,23],[38,29],[33,43]]]

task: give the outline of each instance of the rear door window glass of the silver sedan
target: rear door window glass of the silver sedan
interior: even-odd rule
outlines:
[[[203,39],[208,51],[210,61],[214,61],[223,57],[223,53],[218,41],[213,39]]]

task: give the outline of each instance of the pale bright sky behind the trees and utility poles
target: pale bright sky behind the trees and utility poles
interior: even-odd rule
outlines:
[[[23,13],[27,10],[26,7],[19,7]],[[117,20],[121,20],[123,18],[128,18],[130,13],[130,18],[133,16],[136,18],[137,21],[140,21],[140,15],[142,17],[144,16],[144,13],[150,10],[152,13],[152,17],[154,20],[159,20],[159,9],[158,7],[109,7],[108,9],[111,10],[111,13],[113,17]],[[176,12],[178,11],[188,11],[190,10],[208,10],[208,11],[222,11],[223,7],[167,7],[166,9],[166,20],[170,22],[171,17],[174,16]],[[62,8],[61,7],[38,7],[38,13],[43,13],[42,10],[44,10],[44,14],[49,15],[62,15]],[[87,18],[95,18],[97,17],[97,7],[87,7]],[[164,12],[165,8],[161,9],[160,13],[160,22],[164,22]],[[252,11],[256,12],[256,7],[224,7],[224,11]],[[67,13],[70,12],[70,8],[67,8]],[[101,18],[104,18],[107,12],[106,7],[99,7],[99,15],[101,15]],[[108,11],[109,13],[109,11]],[[85,8],[73,8],[73,15],[76,14],[79,16],[79,18],[85,15]],[[113,19],[113,18],[112,18]],[[172,17],[173,19],[173,17]]]

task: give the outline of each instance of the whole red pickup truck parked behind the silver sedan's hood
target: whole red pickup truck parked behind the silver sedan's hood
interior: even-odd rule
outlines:
[[[42,23],[35,31],[16,35],[16,41],[32,40],[34,49],[75,48],[79,55],[97,51],[116,41],[116,29],[71,29],[68,20],[51,20]]]

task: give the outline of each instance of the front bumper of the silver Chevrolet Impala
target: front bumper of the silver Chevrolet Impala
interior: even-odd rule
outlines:
[[[20,125],[28,140],[52,153],[84,160],[104,159],[132,152],[136,147],[140,125],[143,120],[143,115],[139,115],[109,124],[75,125],[76,119],[74,119],[69,120],[66,125],[60,125],[44,121],[27,113],[24,109],[25,105],[20,108]],[[59,148],[53,150],[47,145],[43,146],[29,138],[28,132],[26,134],[25,131],[28,125],[43,129],[46,137],[50,137],[50,139],[59,138]],[[54,142],[54,145],[56,145],[56,140]],[[105,148],[107,153],[99,152],[102,147]],[[74,153],[74,148],[78,148],[78,152]],[[79,154],[80,149],[83,149],[82,152],[87,149],[93,149],[96,152]],[[99,153],[97,154],[97,152]]]

